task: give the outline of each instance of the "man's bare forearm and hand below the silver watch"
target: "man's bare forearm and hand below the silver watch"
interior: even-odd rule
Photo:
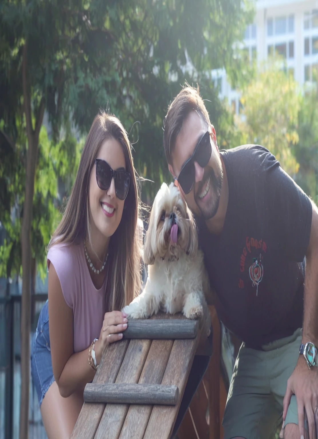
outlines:
[[[310,241],[306,252],[306,273],[304,288],[304,323],[302,342],[312,342],[318,346],[318,209],[313,204]],[[296,396],[300,437],[305,437],[304,410],[306,410],[309,437],[316,439],[314,413],[318,405],[318,368],[308,368],[300,355],[287,381],[284,398],[283,419],[287,414],[292,395]]]

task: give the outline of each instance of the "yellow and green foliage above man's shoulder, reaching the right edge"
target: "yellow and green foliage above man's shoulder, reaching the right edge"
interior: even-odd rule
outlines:
[[[242,143],[268,148],[317,203],[318,90],[301,95],[281,67],[281,62],[273,60],[243,91],[243,117],[236,121],[236,134]]]

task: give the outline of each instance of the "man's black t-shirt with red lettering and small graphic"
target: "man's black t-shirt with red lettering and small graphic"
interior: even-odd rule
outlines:
[[[220,154],[229,191],[224,228],[210,234],[198,218],[199,245],[220,319],[260,348],[302,327],[312,205],[267,149],[244,145]]]

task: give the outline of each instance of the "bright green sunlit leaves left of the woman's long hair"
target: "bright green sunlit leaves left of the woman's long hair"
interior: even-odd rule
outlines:
[[[23,133],[23,130],[22,130]],[[23,147],[16,143],[16,149]],[[46,275],[46,247],[52,231],[61,219],[61,206],[65,199],[58,196],[58,183],[61,193],[67,191],[75,180],[76,169],[80,161],[83,142],[77,143],[69,132],[60,142],[54,144],[47,136],[47,129],[42,126],[39,139],[38,166],[36,169],[33,196],[33,222],[31,230],[32,257],[42,278]],[[24,151],[25,153],[25,151]],[[24,158],[24,155],[21,155]],[[0,247],[0,277],[22,274],[21,272],[21,227],[25,194],[25,163],[20,155],[14,160],[15,169],[6,175],[6,202],[10,209],[1,211],[0,220],[7,239]]]

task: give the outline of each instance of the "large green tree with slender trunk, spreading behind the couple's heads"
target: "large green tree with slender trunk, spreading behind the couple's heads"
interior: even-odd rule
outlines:
[[[135,163],[141,175],[155,180],[152,188],[146,188],[148,194],[154,194],[167,176],[162,147],[163,117],[185,79],[202,84],[205,98],[213,104],[210,108],[213,123],[217,126],[220,121],[224,136],[229,138],[228,113],[218,101],[208,72],[225,67],[234,82],[240,80],[237,72],[242,59],[236,56],[234,43],[242,39],[251,14],[247,0],[1,2],[0,45],[5,50],[0,57],[4,73],[0,89],[10,90],[0,106],[1,148],[9,151],[16,163],[12,169],[3,168],[3,177],[0,176],[7,224],[12,202],[16,202],[8,187],[17,175],[18,163],[25,166],[25,194],[20,198],[23,202],[20,438],[27,437],[28,431],[31,256],[44,253],[43,245],[37,247],[35,243],[35,237],[39,236],[35,212],[44,217],[47,214],[47,227],[42,222],[42,232],[46,232],[41,232],[45,239],[53,224],[50,218],[54,217],[53,201],[47,208],[43,206],[44,210],[37,206],[37,196],[41,194],[37,180],[40,151],[47,145],[41,130],[44,112],[52,129],[50,148],[53,148],[59,142],[61,126],[72,122],[80,133],[87,133],[98,109],[110,108],[127,129],[134,126],[130,139],[133,143],[138,140]],[[237,26],[238,22],[241,27]],[[136,121],[140,123],[134,125]],[[67,151],[68,148],[59,151],[57,162]],[[19,155],[21,160],[17,160]],[[56,166],[54,170],[58,173]],[[18,184],[23,187],[21,181]],[[51,200],[56,196],[53,187],[48,194]],[[43,193],[40,196],[45,198]],[[12,248],[13,244],[11,255]],[[18,270],[18,258],[14,259]]]

